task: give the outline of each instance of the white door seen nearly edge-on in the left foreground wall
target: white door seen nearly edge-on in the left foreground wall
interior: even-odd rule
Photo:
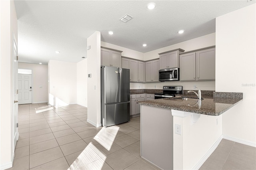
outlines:
[[[17,56],[17,45],[16,42],[14,41],[13,43],[13,56],[12,56],[12,90],[13,90],[13,108],[12,108],[12,119],[13,119],[13,137],[14,137],[14,145],[13,147],[15,148],[16,142],[19,138],[18,135],[18,83],[17,83],[17,76],[18,76],[18,56]],[[13,151],[14,151],[13,148]]]

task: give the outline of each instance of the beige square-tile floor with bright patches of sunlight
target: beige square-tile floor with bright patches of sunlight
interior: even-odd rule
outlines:
[[[10,170],[159,169],[140,158],[140,117],[95,128],[86,122],[86,107],[36,113],[42,106],[46,103],[19,105],[20,137]],[[200,169],[256,169],[255,148],[222,140]]]

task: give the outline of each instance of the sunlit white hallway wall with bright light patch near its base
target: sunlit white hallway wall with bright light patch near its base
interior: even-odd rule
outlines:
[[[50,60],[48,62],[49,104],[76,104],[76,63]],[[51,103],[51,95],[54,103]],[[64,104],[63,103],[63,104]]]

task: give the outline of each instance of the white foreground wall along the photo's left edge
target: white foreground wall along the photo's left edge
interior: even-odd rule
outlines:
[[[14,156],[12,53],[13,39],[18,38],[14,1],[0,1],[0,26],[0,169],[6,169],[12,167]]]

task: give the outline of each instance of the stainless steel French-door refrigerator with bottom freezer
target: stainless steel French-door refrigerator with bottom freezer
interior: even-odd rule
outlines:
[[[130,69],[101,66],[101,124],[130,121]]]

